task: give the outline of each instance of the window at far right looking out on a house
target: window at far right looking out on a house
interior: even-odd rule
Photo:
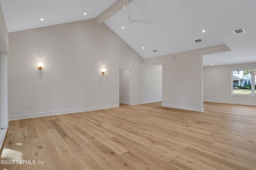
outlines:
[[[232,71],[232,94],[255,96],[256,69]]]

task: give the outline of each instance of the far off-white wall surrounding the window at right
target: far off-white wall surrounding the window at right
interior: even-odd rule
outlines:
[[[232,70],[255,68],[256,63],[204,67],[204,101],[256,106],[256,96],[231,95]]]

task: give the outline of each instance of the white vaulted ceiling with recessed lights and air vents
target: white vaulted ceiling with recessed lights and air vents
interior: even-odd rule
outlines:
[[[204,66],[256,62],[255,0],[132,0],[130,8],[128,0],[0,3],[9,32],[96,18],[144,59],[226,44],[231,51],[205,55]],[[133,20],[150,23],[128,23],[129,11]],[[234,34],[242,28],[243,33]]]

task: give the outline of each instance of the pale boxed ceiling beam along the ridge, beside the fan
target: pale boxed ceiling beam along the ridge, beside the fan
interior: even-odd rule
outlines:
[[[129,4],[132,0],[116,0],[111,6],[109,6],[105,11],[103,11],[100,15],[96,17],[97,23],[102,23],[112,15],[116,14],[119,10],[121,10],[124,6]],[[124,5],[124,6],[123,6]]]

